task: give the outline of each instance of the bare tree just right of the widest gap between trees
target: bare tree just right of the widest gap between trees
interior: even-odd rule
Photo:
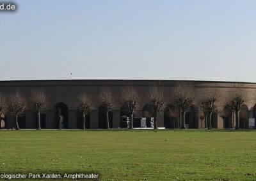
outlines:
[[[85,117],[91,112],[92,99],[87,94],[81,94],[78,97],[77,109],[83,114],[83,129],[85,129]]]

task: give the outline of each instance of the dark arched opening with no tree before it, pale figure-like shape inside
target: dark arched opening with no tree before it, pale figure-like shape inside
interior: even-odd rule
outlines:
[[[65,103],[58,103],[56,106],[56,129],[68,129],[68,106]],[[61,116],[63,121],[60,124]],[[61,127],[60,127],[61,126]]]

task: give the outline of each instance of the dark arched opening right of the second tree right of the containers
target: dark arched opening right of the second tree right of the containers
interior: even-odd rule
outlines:
[[[187,128],[198,128],[198,108],[195,105],[189,107],[185,115],[185,124]]]

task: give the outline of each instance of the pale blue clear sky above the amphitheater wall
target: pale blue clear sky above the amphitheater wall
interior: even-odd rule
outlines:
[[[256,82],[254,0],[12,2],[0,80]]]

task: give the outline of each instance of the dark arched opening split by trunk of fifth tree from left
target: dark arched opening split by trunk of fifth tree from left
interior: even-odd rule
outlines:
[[[109,127],[113,127],[113,112],[108,112],[108,119],[109,119]],[[106,116],[106,108],[101,105],[99,106],[99,128],[100,129],[107,129],[107,116]]]

